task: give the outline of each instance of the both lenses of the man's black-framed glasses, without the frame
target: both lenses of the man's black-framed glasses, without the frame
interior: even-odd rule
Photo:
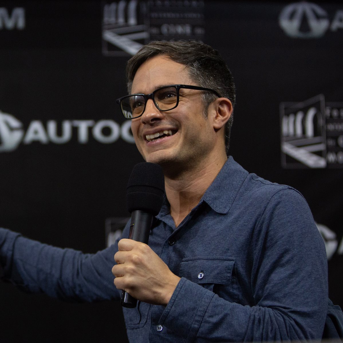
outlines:
[[[172,109],[177,103],[176,87],[159,88],[153,93],[154,103],[158,109],[166,111]],[[126,118],[139,117],[145,109],[143,95],[130,95],[121,100],[121,108]]]

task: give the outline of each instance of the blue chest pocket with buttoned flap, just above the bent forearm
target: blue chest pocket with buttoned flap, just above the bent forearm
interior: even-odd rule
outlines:
[[[179,276],[209,289],[225,300],[238,302],[234,258],[189,257],[180,263]]]

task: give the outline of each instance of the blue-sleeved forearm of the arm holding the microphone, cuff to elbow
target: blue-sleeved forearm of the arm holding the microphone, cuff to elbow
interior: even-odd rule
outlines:
[[[321,338],[326,309],[325,296],[301,308],[242,306],[182,278],[157,320],[187,342],[310,340]]]

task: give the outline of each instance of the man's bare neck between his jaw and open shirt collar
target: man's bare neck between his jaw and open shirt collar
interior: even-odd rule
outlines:
[[[197,167],[184,168],[178,173],[165,174],[165,189],[170,204],[170,215],[177,227],[189,212],[199,203],[201,197],[211,185],[227,157],[198,165]],[[164,168],[165,170],[167,168]],[[170,169],[168,168],[168,171]]]

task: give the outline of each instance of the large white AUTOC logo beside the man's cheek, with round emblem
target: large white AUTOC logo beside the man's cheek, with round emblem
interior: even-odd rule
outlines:
[[[0,111],[0,152],[11,152],[22,143],[66,144],[76,135],[77,142],[87,144],[90,137],[99,143],[110,144],[122,138],[127,143],[134,143],[131,133],[131,121],[120,126],[110,119],[95,120],[32,120],[24,128],[14,116]]]

